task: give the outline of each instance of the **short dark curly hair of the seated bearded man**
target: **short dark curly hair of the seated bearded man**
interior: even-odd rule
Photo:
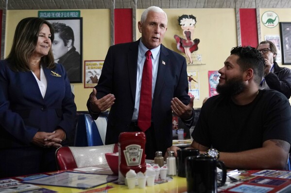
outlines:
[[[265,59],[256,48],[251,46],[237,46],[233,47],[230,54],[239,56],[237,60],[242,71],[251,68],[255,74],[255,82],[259,85],[265,68]]]

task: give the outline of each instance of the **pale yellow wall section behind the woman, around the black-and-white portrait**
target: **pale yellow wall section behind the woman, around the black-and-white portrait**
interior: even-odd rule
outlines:
[[[84,60],[103,60],[110,46],[110,10],[80,10],[83,17],[83,65]],[[4,57],[10,52],[17,23],[25,17],[37,16],[38,10],[7,10]],[[83,67],[84,78],[84,67]],[[91,88],[84,83],[74,83],[77,111],[87,111],[86,102]]]

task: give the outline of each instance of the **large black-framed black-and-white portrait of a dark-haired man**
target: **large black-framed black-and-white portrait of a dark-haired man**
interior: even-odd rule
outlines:
[[[62,64],[70,83],[82,82],[82,17],[47,18],[54,28],[54,61]]]

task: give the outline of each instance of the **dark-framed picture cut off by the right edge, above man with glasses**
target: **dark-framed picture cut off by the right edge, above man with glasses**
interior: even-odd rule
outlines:
[[[282,64],[291,64],[291,22],[280,22]]]

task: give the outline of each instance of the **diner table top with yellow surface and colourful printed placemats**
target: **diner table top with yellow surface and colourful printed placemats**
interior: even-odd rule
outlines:
[[[150,163],[152,161],[147,160],[147,162]],[[103,180],[104,182],[101,185],[94,187],[90,186],[91,188],[74,188],[76,186],[80,187],[80,184],[82,185],[84,181],[82,181],[82,178],[79,179],[79,177],[78,180],[76,180],[77,178],[73,178],[70,176],[71,174],[72,176],[80,177],[82,177],[82,175],[86,177],[94,176],[93,180],[91,180],[93,184],[95,183],[95,178],[97,179],[96,181],[99,181],[100,178],[106,180]],[[101,177],[97,177],[98,175],[94,174],[99,174]],[[260,193],[291,192],[291,171],[228,170],[227,176],[228,178],[225,185],[218,188],[218,193],[255,193],[256,191],[256,193],[260,191]],[[66,180],[64,180],[63,177],[65,177]],[[52,179],[51,181],[54,181],[54,183],[32,183],[33,181],[35,182],[37,180],[44,181],[44,179],[47,178]],[[27,181],[27,179],[30,180]],[[27,176],[0,179],[0,193],[8,193],[7,191],[5,192],[5,190],[2,190],[3,187],[5,188],[5,184],[3,183],[5,180],[6,182],[8,180],[24,180],[26,183],[20,183],[21,185],[37,186],[35,187],[35,190],[31,189],[29,192],[25,193],[187,193],[187,179],[178,176],[167,177],[166,180],[155,181],[153,186],[146,186],[143,189],[138,188],[138,186],[136,186],[134,189],[129,189],[126,185],[118,184],[116,179],[118,179],[118,176],[113,175],[113,172],[110,170],[108,164],[103,164],[69,170],[60,170],[50,173],[32,174]],[[71,184],[73,184],[73,187],[62,187],[55,185],[57,182],[61,185],[64,185],[62,180],[72,182]],[[14,187],[16,186],[17,185]],[[14,188],[14,190],[16,189]]]

